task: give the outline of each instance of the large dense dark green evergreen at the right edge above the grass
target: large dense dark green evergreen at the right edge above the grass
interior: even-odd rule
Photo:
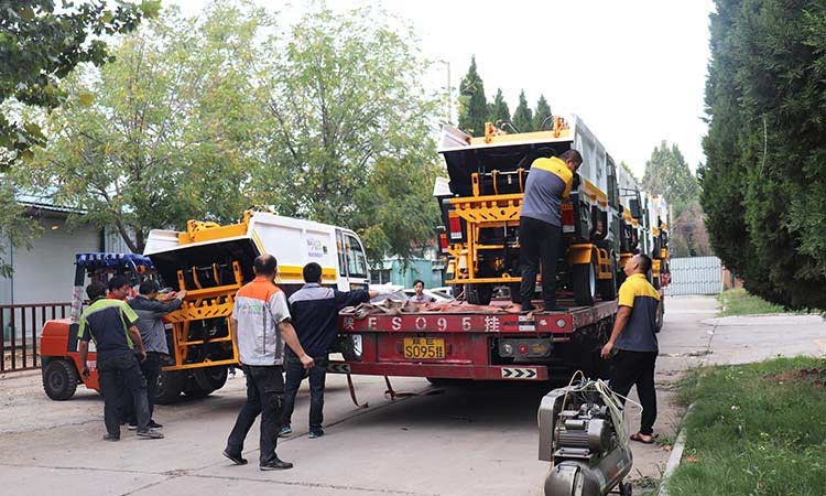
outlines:
[[[717,0],[710,19],[711,244],[750,292],[826,308],[826,4]]]

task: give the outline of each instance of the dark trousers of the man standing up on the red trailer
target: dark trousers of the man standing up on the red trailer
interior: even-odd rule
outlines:
[[[531,218],[519,218],[519,266],[522,283],[519,293],[522,310],[533,310],[531,300],[536,288],[536,273],[542,263],[542,300],[545,308],[556,305],[556,259],[559,258],[562,228]]]

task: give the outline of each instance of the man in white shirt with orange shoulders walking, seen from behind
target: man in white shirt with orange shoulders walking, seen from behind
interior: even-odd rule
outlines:
[[[247,402],[238,413],[224,456],[237,465],[247,463],[241,456],[243,441],[260,413],[259,468],[292,468],[292,463],[280,460],[275,454],[284,392],[284,344],[295,353],[302,367],[313,368],[315,362],[304,352],[290,323],[284,292],[272,283],[278,274],[275,257],[257,257],[253,270],[256,279],[238,290],[230,316],[232,341],[247,376]]]

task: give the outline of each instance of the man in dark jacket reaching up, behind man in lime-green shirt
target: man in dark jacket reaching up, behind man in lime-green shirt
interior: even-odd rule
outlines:
[[[146,280],[138,288],[138,295],[129,301],[129,306],[138,315],[138,331],[141,333],[143,347],[146,351],[146,359],[141,363],[141,373],[146,378],[146,401],[149,403],[149,427],[161,429],[163,425],[155,422],[153,417],[155,410],[155,395],[157,393],[157,377],[161,375],[162,359],[170,354],[166,344],[166,327],[163,316],[180,309],[186,291],[172,293],[169,301],[159,301],[160,290],[157,282]],[[129,422],[129,430],[138,429],[138,418],[132,408],[132,397],[128,390],[124,391],[123,411]]]

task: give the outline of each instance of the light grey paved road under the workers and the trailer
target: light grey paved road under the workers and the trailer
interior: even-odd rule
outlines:
[[[702,360],[743,357],[742,351],[751,348],[742,346],[752,346],[747,342],[753,339],[741,326],[709,321],[715,315],[713,299],[671,298],[667,303],[657,375],[661,414],[655,428],[673,433],[681,412],[669,405],[671,381]],[[764,355],[782,351],[780,344],[767,344],[772,341],[796,353],[826,336],[819,317],[803,319],[811,322],[783,325],[806,327],[808,344],[780,333],[780,324],[772,322],[767,326],[771,331],[761,334],[767,342],[760,348],[771,352]],[[748,325],[743,328],[757,324]],[[250,435],[246,449],[249,465],[230,465],[220,455],[243,402],[240,374],[209,398],[159,407],[156,418],[166,425],[165,440],[138,440],[124,430],[119,443],[99,441],[102,402],[94,391],[79,389],[74,399],[54,402],[41,391],[37,374],[10,374],[0,377],[0,494],[542,494],[547,464],[536,460],[535,418],[545,389],[518,384],[437,389],[423,379],[392,381],[396,390],[416,395],[391,401],[381,378],[359,377],[359,400],[370,407],[356,409],[344,378],[332,375],[325,408],[327,435],[317,440],[305,435],[308,397],[303,390],[293,421],[297,432],[279,443],[279,454],[295,462],[295,468],[260,472],[257,435]],[[637,421],[634,413],[632,422]],[[657,476],[667,455],[660,446],[635,444],[632,476]]]

